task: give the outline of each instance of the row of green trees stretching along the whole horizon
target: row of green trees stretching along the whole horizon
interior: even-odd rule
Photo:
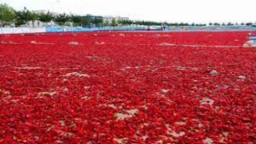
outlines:
[[[210,22],[209,24],[186,23],[186,22],[151,22],[151,21],[134,21],[134,20],[118,20],[113,18],[110,22],[103,20],[101,16],[92,15],[76,15],[76,14],[54,14],[50,11],[46,13],[35,13],[24,7],[23,10],[14,10],[7,4],[0,4],[0,26],[22,26],[27,22],[35,21],[55,22],[59,26],[66,26],[67,22],[72,23],[72,26],[252,26],[253,22],[247,23],[218,23]]]

